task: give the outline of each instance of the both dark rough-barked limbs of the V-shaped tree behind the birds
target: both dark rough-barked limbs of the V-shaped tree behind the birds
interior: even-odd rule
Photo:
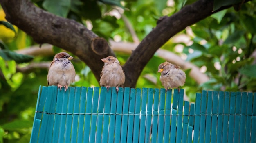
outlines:
[[[38,43],[50,43],[72,52],[90,67],[98,81],[103,66],[100,59],[115,56],[105,39],[74,20],[57,17],[34,6],[29,0],[0,0],[0,4],[9,22],[25,31]],[[230,6],[225,8],[228,7]],[[157,49],[186,26],[216,12],[212,10],[213,0],[198,0],[171,17],[161,20],[123,66],[126,73],[124,86],[135,87],[139,75]]]

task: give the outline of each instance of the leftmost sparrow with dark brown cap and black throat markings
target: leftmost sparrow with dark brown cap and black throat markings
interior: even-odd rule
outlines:
[[[74,66],[70,62],[72,59],[74,58],[66,52],[54,56],[47,75],[48,85],[57,85],[60,90],[64,86],[65,91],[67,91],[68,86],[75,81],[76,76]]]

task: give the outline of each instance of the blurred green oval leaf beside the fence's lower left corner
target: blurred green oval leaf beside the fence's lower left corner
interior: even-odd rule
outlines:
[[[2,125],[2,128],[4,130],[16,131],[16,130],[30,128],[30,127],[32,127],[32,125],[33,125],[33,123],[31,121],[17,120],[17,121],[12,121],[12,122]]]

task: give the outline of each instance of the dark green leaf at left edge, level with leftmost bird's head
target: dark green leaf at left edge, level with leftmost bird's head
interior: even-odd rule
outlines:
[[[4,58],[6,61],[14,60],[16,63],[26,63],[34,58],[33,56],[17,54],[16,52],[9,50],[0,50],[0,56],[2,56],[2,58]]]

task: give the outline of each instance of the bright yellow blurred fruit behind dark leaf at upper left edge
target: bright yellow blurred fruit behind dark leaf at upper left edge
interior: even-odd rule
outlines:
[[[3,9],[0,9],[0,21],[7,21],[5,19],[5,13]],[[18,27],[13,25],[14,29],[16,32],[18,32]],[[14,37],[15,37],[15,32],[7,27],[5,27],[4,25],[0,25],[0,39],[3,42],[11,42]]]

